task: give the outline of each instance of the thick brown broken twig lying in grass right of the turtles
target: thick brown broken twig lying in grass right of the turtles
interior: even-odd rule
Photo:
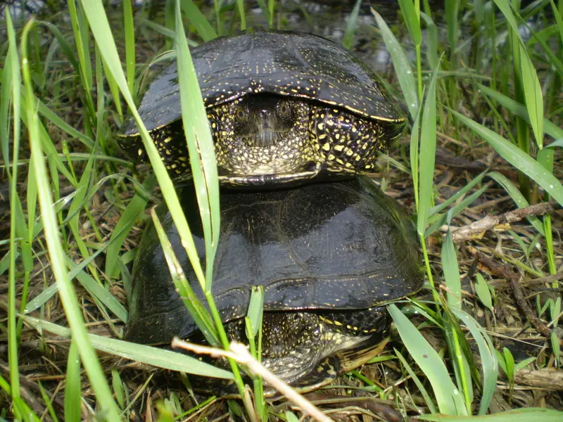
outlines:
[[[519,208],[518,210],[505,212],[501,215],[488,215],[487,217],[476,222],[472,222],[472,224],[468,224],[467,226],[458,228],[452,227],[452,239],[454,242],[461,242],[474,238],[482,238],[487,230],[493,229],[493,227],[499,226],[500,224],[519,222],[521,219],[531,217],[533,215],[549,214],[558,208],[560,208],[559,205],[554,205],[552,203],[540,203],[530,205],[529,207]]]

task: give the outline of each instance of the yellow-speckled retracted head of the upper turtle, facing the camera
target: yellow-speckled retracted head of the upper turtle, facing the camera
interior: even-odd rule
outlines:
[[[247,95],[210,108],[220,179],[256,186],[317,175],[309,113],[307,101],[271,94]]]

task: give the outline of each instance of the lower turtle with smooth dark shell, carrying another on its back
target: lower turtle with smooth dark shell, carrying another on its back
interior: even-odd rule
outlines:
[[[386,303],[424,281],[405,211],[365,176],[273,190],[220,191],[221,229],[212,293],[227,335],[245,342],[244,316],[262,286],[262,363],[308,391],[377,354]],[[203,229],[193,187],[179,190],[202,265]],[[204,302],[179,234],[157,208],[184,274]],[[141,238],[129,291],[125,340],[170,345],[201,339],[172,283],[154,226]]]

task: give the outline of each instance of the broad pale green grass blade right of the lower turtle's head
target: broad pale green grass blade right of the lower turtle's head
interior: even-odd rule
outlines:
[[[440,412],[450,415],[464,415],[465,405],[462,395],[452,383],[442,358],[396,305],[389,305],[388,311],[397,325],[405,347],[430,381]]]

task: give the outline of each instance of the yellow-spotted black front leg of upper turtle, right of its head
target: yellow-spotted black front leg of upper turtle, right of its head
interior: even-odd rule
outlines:
[[[345,110],[312,107],[311,113],[309,134],[329,172],[371,171],[377,151],[386,148],[393,139],[382,123],[356,117]]]

